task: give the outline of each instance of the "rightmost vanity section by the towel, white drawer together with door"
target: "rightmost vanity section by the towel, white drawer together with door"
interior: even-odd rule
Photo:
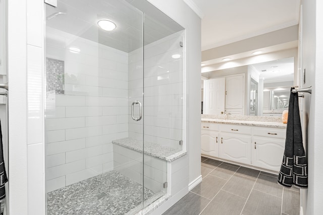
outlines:
[[[285,150],[286,130],[254,128],[252,137],[252,165],[280,171]]]

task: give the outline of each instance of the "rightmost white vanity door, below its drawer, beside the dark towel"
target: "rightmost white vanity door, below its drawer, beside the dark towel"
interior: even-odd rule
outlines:
[[[280,171],[285,139],[257,137],[252,139],[252,166]]]

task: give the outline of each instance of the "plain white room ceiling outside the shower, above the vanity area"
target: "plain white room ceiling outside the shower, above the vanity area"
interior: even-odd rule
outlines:
[[[202,18],[202,51],[297,25],[300,0],[184,0]]]

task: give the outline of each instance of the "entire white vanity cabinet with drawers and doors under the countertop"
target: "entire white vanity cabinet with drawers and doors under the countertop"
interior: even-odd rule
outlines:
[[[201,154],[280,171],[286,128],[202,123]]]

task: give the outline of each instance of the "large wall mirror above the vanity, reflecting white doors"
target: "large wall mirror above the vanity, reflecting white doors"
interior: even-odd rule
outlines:
[[[229,86],[231,79],[242,74],[245,77],[240,79],[239,83],[242,83],[236,82]],[[205,83],[222,78],[224,82],[221,86],[225,89],[225,98],[219,96],[220,85],[213,84],[211,91],[205,89],[208,86]],[[202,80],[203,114],[216,114],[208,113],[205,109],[212,107],[219,110],[219,114],[230,112],[232,115],[282,116],[283,111],[288,109],[289,92],[294,85],[294,57],[209,71],[202,73]],[[233,95],[229,95],[229,87],[234,88],[231,89],[235,92]],[[230,101],[238,102],[239,98],[244,98],[245,102],[236,106],[228,104]]]

